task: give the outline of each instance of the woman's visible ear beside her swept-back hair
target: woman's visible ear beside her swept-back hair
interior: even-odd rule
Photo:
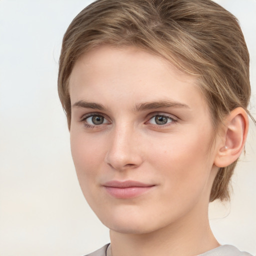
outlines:
[[[242,107],[232,110],[224,120],[224,126],[216,144],[214,164],[225,167],[241,154],[248,133],[248,115]]]

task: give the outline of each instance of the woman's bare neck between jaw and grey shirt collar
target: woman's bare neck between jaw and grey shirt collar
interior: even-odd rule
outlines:
[[[207,209],[197,213],[150,233],[110,230],[112,256],[194,256],[219,246],[209,226]]]

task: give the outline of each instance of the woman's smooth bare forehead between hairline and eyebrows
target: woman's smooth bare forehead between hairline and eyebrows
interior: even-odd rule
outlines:
[[[69,80],[71,104],[77,100],[114,100],[127,104],[174,100],[205,104],[196,78],[166,59],[135,47],[100,46],[76,61]]]

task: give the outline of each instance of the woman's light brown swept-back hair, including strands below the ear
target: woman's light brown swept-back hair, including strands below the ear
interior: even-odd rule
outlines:
[[[211,0],[97,0],[72,20],[62,41],[58,94],[68,128],[72,68],[79,56],[102,44],[135,46],[197,76],[214,132],[238,106],[250,115],[249,54],[230,12]],[[229,199],[228,184],[236,162],[219,168],[209,201]]]

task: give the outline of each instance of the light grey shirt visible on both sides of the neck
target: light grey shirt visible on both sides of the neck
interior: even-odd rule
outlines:
[[[111,246],[108,243],[104,245],[102,248],[92,253],[89,253],[85,256],[111,256]],[[245,251],[239,251],[233,245],[221,245],[217,248],[206,251],[197,256],[252,256],[252,255]]]

